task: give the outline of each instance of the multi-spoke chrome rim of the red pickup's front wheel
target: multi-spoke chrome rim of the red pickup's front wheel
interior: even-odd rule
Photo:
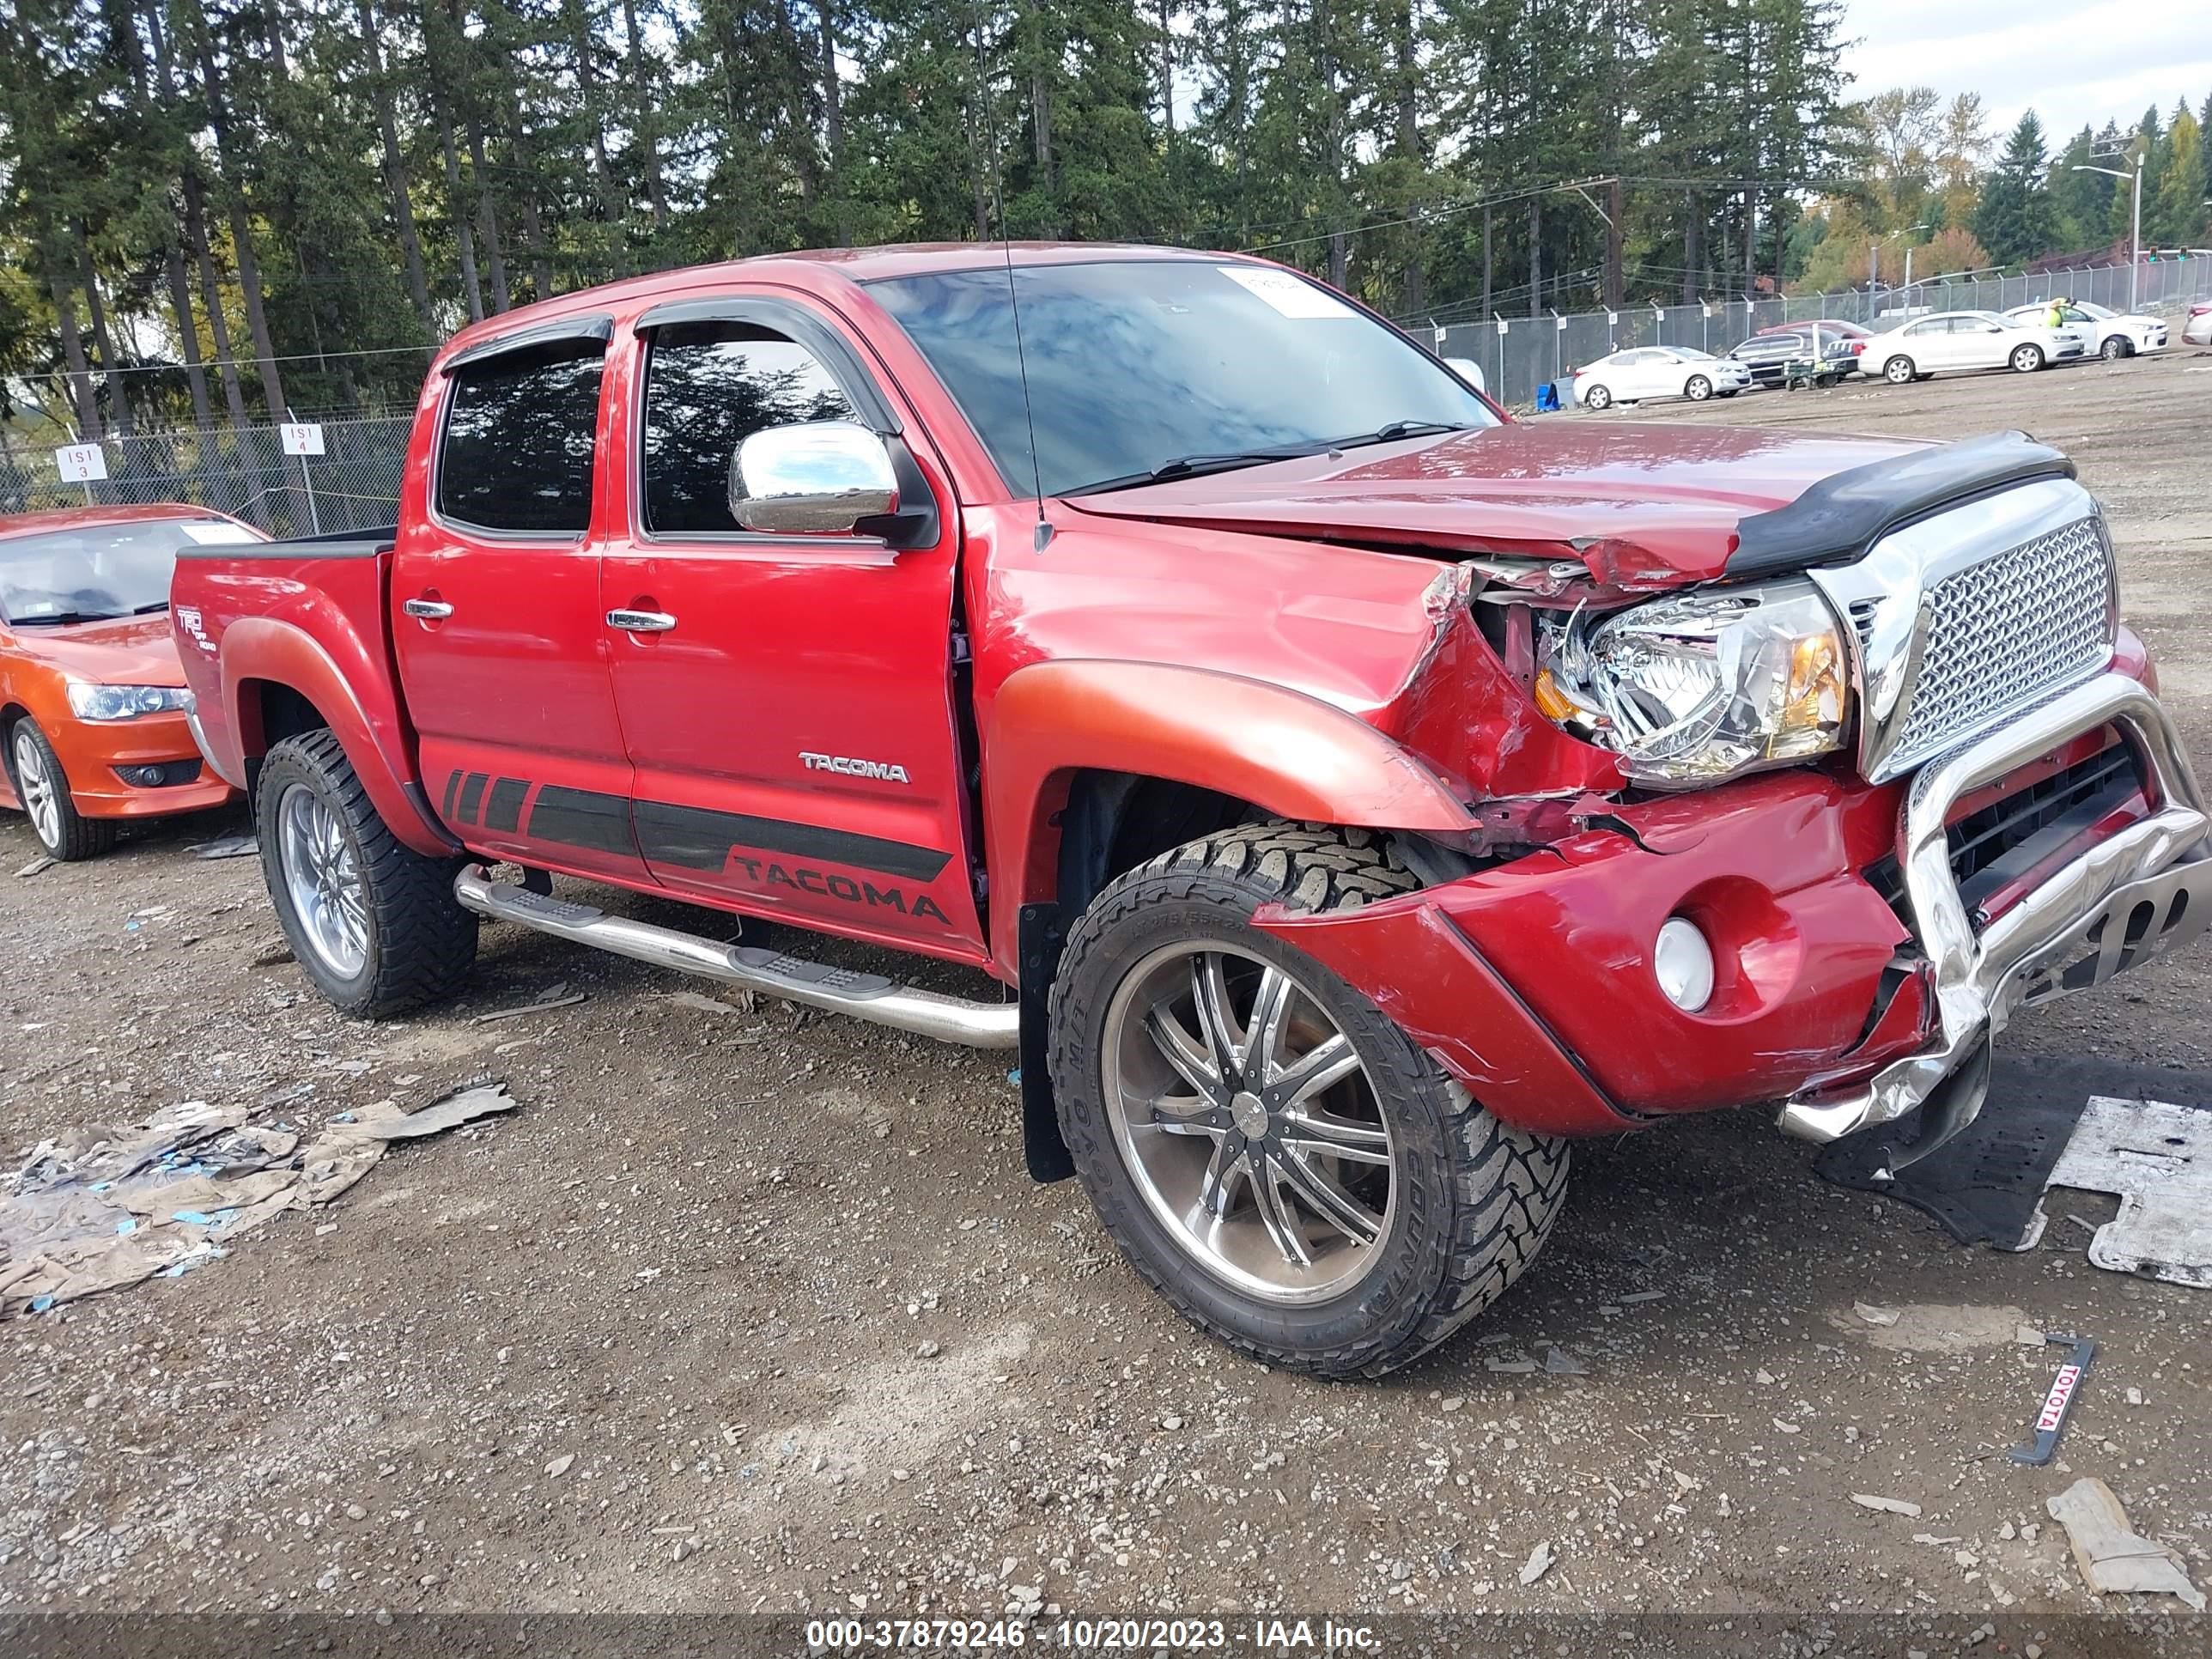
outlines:
[[[1312,1303],[1369,1270],[1396,1199],[1389,1121],[1294,975],[1221,940],[1152,951],[1106,1009],[1104,1084],[1137,1190],[1210,1274]]]

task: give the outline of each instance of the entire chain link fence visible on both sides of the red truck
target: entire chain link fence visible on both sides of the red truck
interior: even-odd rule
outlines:
[[[1847,290],[1701,305],[1628,305],[1615,314],[1447,323],[1433,327],[1431,338],[1442,356],[1480,363],[1491,396],[1520,407],[1533,405],[1537,387],[1546,380],[1564,383],[1575,367],[1608,352],[1677,345],[1725,354],[1763,327],[1816,316],[1882,330],[1922,310],[2002,312],[2064,294],[2115,312],[2163,314],[2172,325],[2170,338],[2179,345],[2188,303],[2212,299],[2212,257],[2143,263],[2135,281],[2132,303],[2126,265],[2093,265],[2042,276],[1924,281],[1909,290],[1874,294]],[[325,420],[321,456],[283,453],[279,427],[226,425],[108,438],[100,445],[108,476],[91,484],[64,482],[53,449],[29,447],[0,429],[0,513],[119,502],[197,502],[259,524],[270,535],[374,529],[398,518],[409,425],[411,416]]]

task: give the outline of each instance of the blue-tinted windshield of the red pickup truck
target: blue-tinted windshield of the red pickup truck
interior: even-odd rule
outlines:
[[[1029,403],[1004,270],[872,283],[982,438],[1000,476],[1046,495],[1144,482],[1175,462],[1411,436],[1398,422],[1491,427],[1498,416],[1400,334],[1290,272],[1199,259],[1026,265]]]

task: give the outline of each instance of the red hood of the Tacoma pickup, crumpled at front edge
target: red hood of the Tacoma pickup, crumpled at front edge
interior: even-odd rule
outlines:
[[[1927,445],[1759,427],[1513,422],[1082,495],[1104,518],[1451,553],[1577,560],[1599,582],[1721,575],[1736,526]]]

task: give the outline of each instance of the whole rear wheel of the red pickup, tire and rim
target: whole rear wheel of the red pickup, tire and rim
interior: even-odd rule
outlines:
[[[456,863],[394,838],[327,730],[268,752],[254,821],[276,920],[338,1013],[387,1020],[469,978],[476,916],[453,898]]]

